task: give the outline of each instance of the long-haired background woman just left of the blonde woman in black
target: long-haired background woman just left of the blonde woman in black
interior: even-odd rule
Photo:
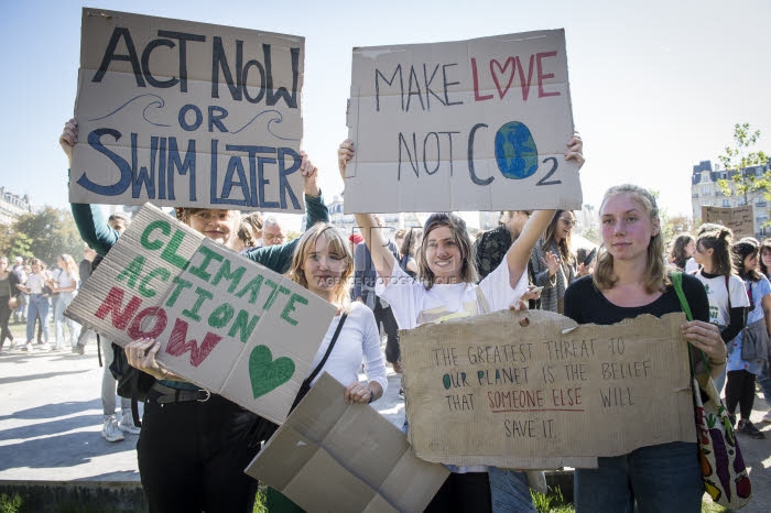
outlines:
[[[533,284],[543,287],[541,309],[563,313],[565,290],[576,276],[576,261],[571,253],[574,226],[576,218],[571,210],[557,210],[530,256]]]

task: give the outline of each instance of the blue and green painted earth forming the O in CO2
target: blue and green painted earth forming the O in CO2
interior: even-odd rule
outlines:
[[[496,133],[496,162],[503,176],[522,179],[539,168],[539,151],[530,129],[510,121]]]

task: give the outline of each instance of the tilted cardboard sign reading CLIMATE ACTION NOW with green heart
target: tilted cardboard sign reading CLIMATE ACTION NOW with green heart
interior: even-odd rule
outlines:
[[[65,315],[282,423],[335,307],[146,204]]]

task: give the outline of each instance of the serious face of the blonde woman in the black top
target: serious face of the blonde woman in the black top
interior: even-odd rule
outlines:
[[[645,208],[629,193],[611,196],[600,211],[602,242],[619,261],[647,261],[651,237],[659,233]]]

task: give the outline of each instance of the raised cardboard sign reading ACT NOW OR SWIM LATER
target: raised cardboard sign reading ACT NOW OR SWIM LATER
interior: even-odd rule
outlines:
[[[300,36],[83,9],[69,200],[302,212]]]

